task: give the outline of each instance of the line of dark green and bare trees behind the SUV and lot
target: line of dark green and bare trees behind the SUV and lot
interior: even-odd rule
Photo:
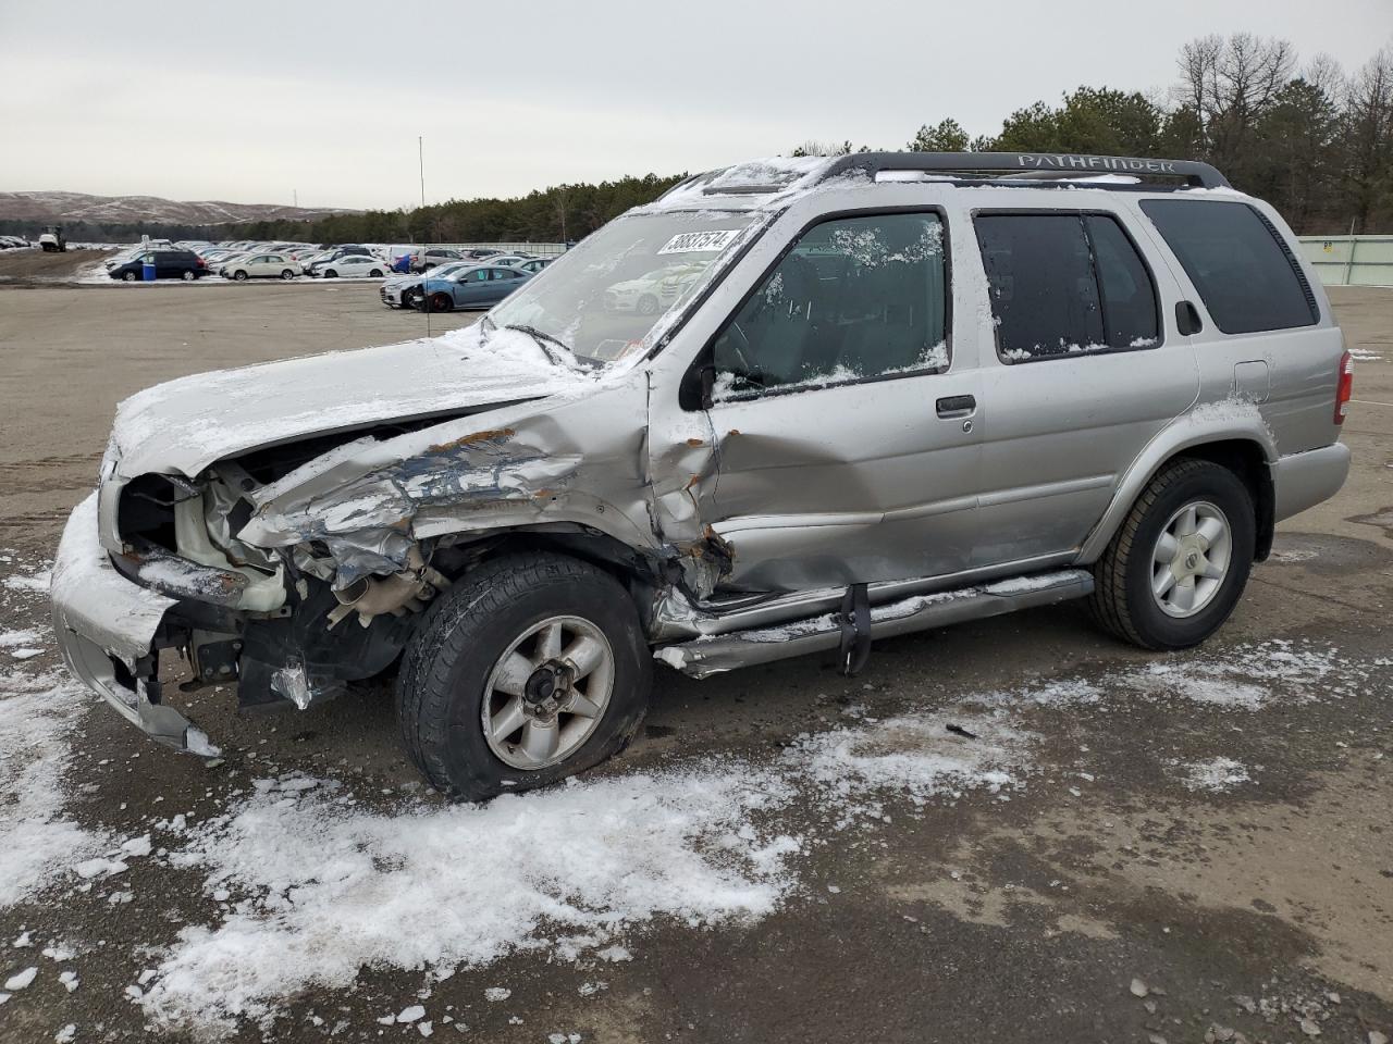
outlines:
[[[1187,43],[1176,82],[1141,92],[1080,86],[1059,103],[1011,113],[996,135],[971,138],[951,118],[924,124],[919,152],[1073,152],[1197,159],[1269,200],[1298,234],[1393,232],[1393,45],[1346,71],[1329,56],[1301,61],[1287,40],[1234,33]],[[837,155],[804,142],[793,155]],[[859,146],[859,150],[869,150]],[[237,226],[79,226],[68,238],[131,231],[184,239],[306,242],[557,242],[579,239],[685,174],[554,185],[513,199],[451,199],[316,221]]]

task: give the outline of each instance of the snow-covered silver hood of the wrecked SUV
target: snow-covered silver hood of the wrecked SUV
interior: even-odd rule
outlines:
[[[116,409],[125,477],[178,472],[315,434],[584,391],[593,379],[553,363],[525,334],[478,324],[432,340],[195,373]]]

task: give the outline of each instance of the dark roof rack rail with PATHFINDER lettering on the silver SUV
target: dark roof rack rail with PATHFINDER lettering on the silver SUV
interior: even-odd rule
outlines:
[[[925,171],[935,174],[997,174],[1039,178],[1071,175],[1135,174],[1183,178],[1191,188],[1229,188],[1229,181],[1208,163],[1198,160],[1142,159],[1139,156],[1082,156],[1043,152],[859,152],[840,156],[823,171],[819,182],[853,171],[875,177],[880,171]]]

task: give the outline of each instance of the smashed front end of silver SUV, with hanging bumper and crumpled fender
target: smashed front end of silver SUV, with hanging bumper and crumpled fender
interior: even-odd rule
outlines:
[[[645,571],[659,547],[644,393],[586,391],[254,447],[192,476],[127,476],[113,440],[56,567],[68,663],[152,736],[208,753],[162,699],[164,650],[187,665],[182,692],[227,685],[244,710],[304,710],[391,668],[430,603],[510,540],[603,543]]]

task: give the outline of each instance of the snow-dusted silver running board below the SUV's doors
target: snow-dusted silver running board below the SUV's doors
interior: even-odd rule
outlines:
[[[915,594],[871,608],[871,638],[907,635],[912,631],[961,624],[967,619],[999,617],[1036,606],[1082,599],[1094,592],[1094,575],[1087,569],[1061,569],[1013,576],[975,587]],[[841,644],[840,614],[825,612],[788,624],[729,635],[696,638],[659,646],[653,656],[692,678],[705,678],[737,667],[766,664],[805,653],[820,653]]]

